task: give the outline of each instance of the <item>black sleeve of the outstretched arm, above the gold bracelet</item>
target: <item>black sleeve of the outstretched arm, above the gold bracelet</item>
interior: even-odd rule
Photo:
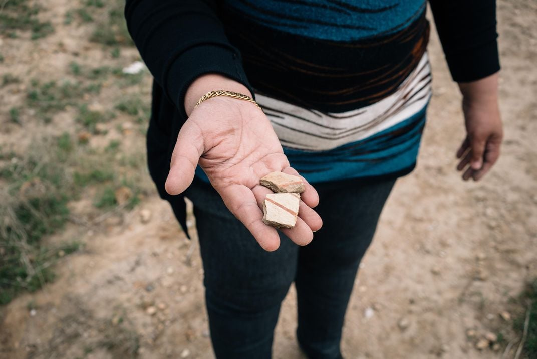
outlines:
[[[131,37],[164,94],[186,117],[184,97],[200,75],[248,83],[240,52],[230,45],[213,0],[127,0]]]

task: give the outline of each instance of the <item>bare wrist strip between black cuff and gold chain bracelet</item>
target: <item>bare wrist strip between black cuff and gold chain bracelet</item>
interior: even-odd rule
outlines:
[[[242,83],[219,74],[206,74],[194,80],[186,90],[184,105],[187,116],[194,109],[199,99],[214,90],[234,91],[246,96],[252,96],[250,90]]]

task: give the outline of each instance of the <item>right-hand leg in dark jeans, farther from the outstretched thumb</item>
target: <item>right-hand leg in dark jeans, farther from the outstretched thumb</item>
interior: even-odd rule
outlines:
[[[323,227],[299,249],[297,340],[309,359],[341,358],[343,320],[358,264],[395,180],[347,188],[317,186]]]

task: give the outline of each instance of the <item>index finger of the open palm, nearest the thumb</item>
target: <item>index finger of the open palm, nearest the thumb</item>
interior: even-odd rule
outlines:
[[[231,213],[248,228],[263,249],[269,252],[278,249],[278,232],[263,222],[263,211],[251,189],[245,185],[231,184],[223,189],[220,195]]]

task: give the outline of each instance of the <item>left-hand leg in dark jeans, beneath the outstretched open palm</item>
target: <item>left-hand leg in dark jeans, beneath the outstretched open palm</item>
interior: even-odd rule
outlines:
[[[285,236],[265,252],[212,187],[193,185],[205,296],[218,359],[270,359],[281,301],[296,270],[298,247]]]

